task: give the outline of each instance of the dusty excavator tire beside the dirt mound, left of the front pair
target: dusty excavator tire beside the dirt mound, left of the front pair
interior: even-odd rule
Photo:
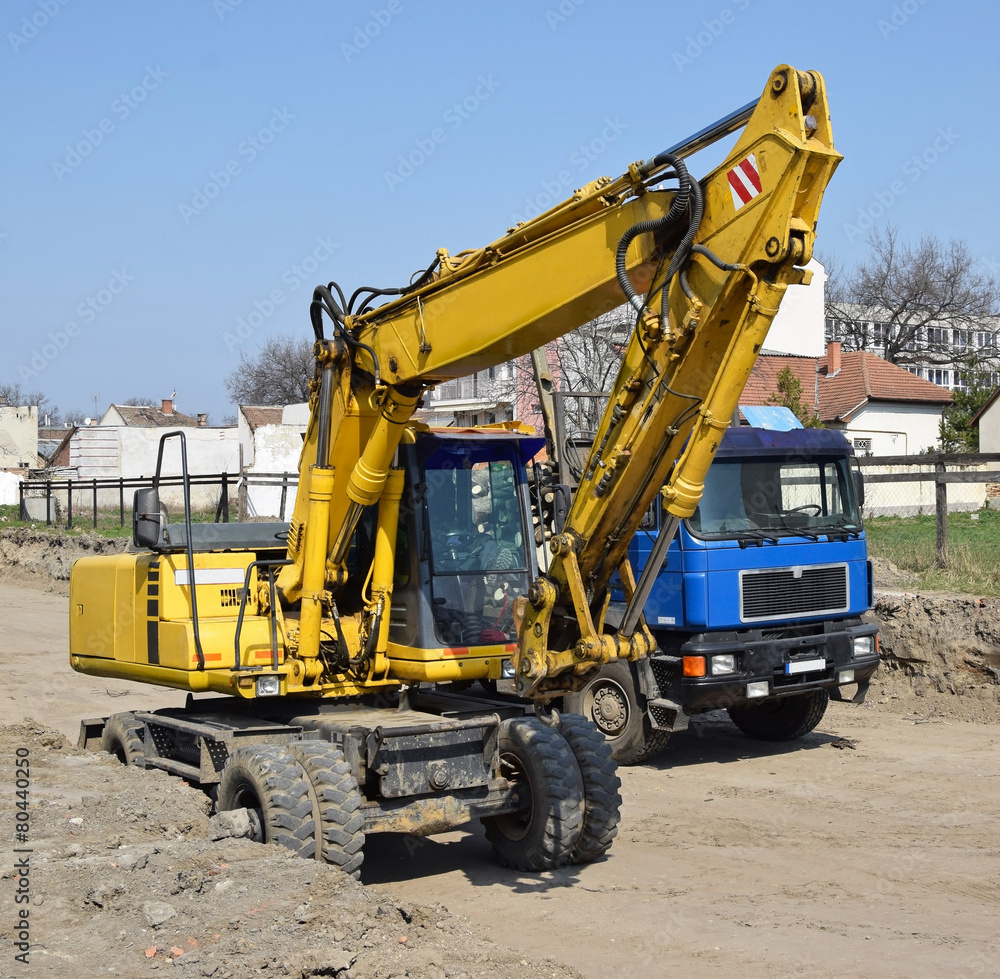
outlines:
[[[219,781],[218,812],[249,809],[261,827],[260,843],[278,843],[316,858],[317,807],[305,769],[289,745],[248,745],[227,759]]]

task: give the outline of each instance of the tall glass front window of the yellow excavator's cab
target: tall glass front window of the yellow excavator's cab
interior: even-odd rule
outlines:
[[[514,599],[529,584],[518,469],[493,447],[441,450],[425,463],[434,624],[443,645],[517,638]]]

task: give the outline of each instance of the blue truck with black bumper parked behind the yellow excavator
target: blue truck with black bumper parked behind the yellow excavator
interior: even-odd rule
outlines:
[[[730,428],[692,517],[680,522],[643,606],[659,652],[611,663],[564,710],[592,718],[623,764],[664,748],[688,718],[726,710],[747,736],[812,731],[828,701],[864,700],[878,666],[872,567],[854,450],[834,430]],[[667,515],[629,550],[638,576]],[[625,609],[612,595],[606,627]]]

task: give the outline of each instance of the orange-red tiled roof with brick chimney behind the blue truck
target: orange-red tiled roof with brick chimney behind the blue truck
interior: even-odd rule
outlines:
[[[947,388],[925,381],[908,370],[863,350],[840,355],[840,370],[827,374],[827,357],[761,354],[740,397],[742,404],[767,404],[778,390],[785,367],[799,379],[802,400],[821,421],[847,421],[870,401],[908,404],[951,404]]]

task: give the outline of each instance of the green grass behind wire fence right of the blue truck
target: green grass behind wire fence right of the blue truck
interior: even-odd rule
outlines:
[[[937,520],[872,517],[865,521],[868,551],[908,571],[920,588],[1000,595],[1000,511],[948,516],[948,562],[937,565]]]

